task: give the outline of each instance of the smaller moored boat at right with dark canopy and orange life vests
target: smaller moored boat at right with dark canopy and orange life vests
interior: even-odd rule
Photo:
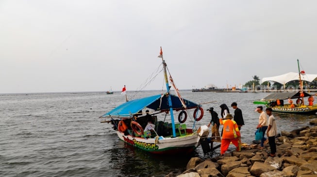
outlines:
[[[301,75],[305,72],[300,71],[299,60],[297,60],[299,68],[300,91],[296,92],[276,92],[267,95],[260,101],[253,102],[254,104],[264,104],[271,107],[275,112],[295,113],[295,114],[316,114],[317,104],[305,105],[304,98],[311,97],[309,93],[303,91]],[[314,99],[314,96],[312,96]],[[296,101],[292,99],[297,99]],[[287,100],[284,104],[284,100]],[[313,101],[314,102],[314,101]],[[312,102],[312,103],[313,103]]]

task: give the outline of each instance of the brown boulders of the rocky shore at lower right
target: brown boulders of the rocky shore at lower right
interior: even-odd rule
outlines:
[[[257,144],[224,156],[202,160],[193,157],[186,171],[166,177],[317,177],[317,119],[312,127],[281,132],[276,138],[276,156],[267,156],[269,145]]]

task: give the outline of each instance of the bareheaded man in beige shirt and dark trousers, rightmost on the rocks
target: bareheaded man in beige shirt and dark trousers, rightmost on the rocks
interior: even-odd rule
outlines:
[[[272,108],[268,107],[266,110],[268,118],[268,128],[267,128],[267,137],[268,137],[268,144],[270,145],[271,153],[269,156],[275,157],[276,153],[276,144],[275,144],[275,136],[277,134],[277,127],[275,123],[275,118],[272,115]]]

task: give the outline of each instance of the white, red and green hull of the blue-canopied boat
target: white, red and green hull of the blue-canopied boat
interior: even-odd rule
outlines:
[[[157,143],[155,143],[155,138],[145,139],[124,135],[118,131],[117,135],[125,143],[153,154],[189,154],[200,145],[200,137],[197,134],[159,139]]]

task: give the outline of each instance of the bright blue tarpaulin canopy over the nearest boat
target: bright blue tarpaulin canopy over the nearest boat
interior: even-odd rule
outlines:
[[[173,110],[184,110],[184,106],[180,101],[180,98],[175,96],[175,95],[170,95],[171,96],[171,101],[172,101],[172,106]],[[153,95],[145,98],[140,98],[136,100],[131,100],[129,102],[123,103],[119,106],[117,106],[115,109],[112,111],[104,114],[101,116],[101,118],[106,118],[106,117],[130,117],[130,115],[134,115],[141,111],[144,108],[150,108],[155,111],[167,111],[169,110],[169,105],[168,105],[168,100],[167,100],[167,95],[164,95],[162,97],[161,101],[161,95]],[[186,109],[192,109],[200,106],[197,103],[184,100],[184,103],[186,105]]]

